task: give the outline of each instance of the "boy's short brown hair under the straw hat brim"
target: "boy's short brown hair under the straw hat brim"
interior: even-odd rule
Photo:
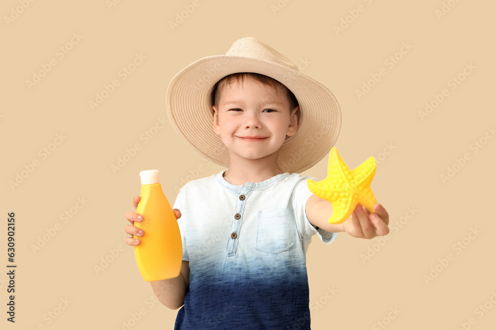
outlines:
[[[219,80],[213,90],[212,94],[210,96],[211,98],[211,103],[212,105],[218,106],[219,104],[219,99],[220,99],[220,91],[222,91],[222,88],[226,84],[231,84],[233,81],[242,82],[245,78],[252,78],[255,81],[258,81],[266,86],[272,86],[279,92],[285,92],[286,96],[289,101],[289,110],[290,113],[293,113],[293,110],[295,107],[299,105],[298,100],[295,97],[295,94],[293,94],[286,86],[284,86],[281,82],[275,80],[274,78],[259,74],[259,73],[252,73],[252,72],[239,72],[239,73],[233,73],[228,76],[225,76],[221,80]],[[301,113],[300,113],[301,115]]]

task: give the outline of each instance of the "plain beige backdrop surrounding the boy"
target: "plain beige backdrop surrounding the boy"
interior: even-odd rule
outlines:
[[[177,72],[247,36],[301,63],[335,94],[343,112],[336,146],[350,167],[379,160],[372,189],[390,214],[391,234],[340,234],[330,245],[313,237],[312,329],[494,329],[495,2],[445,1],[438,17],[442,0],[280,0],[277,11],[276,0],[198,1],[174,31],[169,21],[192,1],[2,1],[0,274],[8,264],[7,212],[15,212],[18,265],[15,324],[5,320],[8,283],[0,275],[2,329],[173,329],[177,311],[151,300],[124,246],[124,215],[141,170],[160,170],[173,203],[174,187],[190,173],[224,169],[190,150],[169,123],[152,128],[167,120],[165,92]],[[353,12],[358,5],[363,11]],[[337,34],[341,19],[351,23]],[[396,54],[403,43],[411,49]],[[146,58],[124,80],[119,72],[136,53]],[[386,60],[395,54],[401,59],[391,68]],[[29,88],[51,59],[56,65]],[[359,99],[356,90],[381,68],[386,75]],[[458,75],[465,79],[453,90]],[[89,102],[115,79],[119,86],[92,110]],[[419,111],[443,89],[449,94],[422,120]],[[153,139],[141,139],[150,130]],[[114,173],[136,143],[140,150]],[[465,153],[464,166],[443,182]],[[325,158],[302,175],[323,179],[326,165]],[[80,209],[78,198],[87,200]],[[33,250],[40,239],[45,245]]]

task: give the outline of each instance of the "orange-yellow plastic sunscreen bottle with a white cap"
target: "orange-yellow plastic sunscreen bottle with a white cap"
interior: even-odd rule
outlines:
[[[143,215],[134,226],[144,231],[134,256],[143,280],[160,281],[178,277],[183,244],[178,220],[160,185],[158,170],[141,171],[141,199],[136,213]]]

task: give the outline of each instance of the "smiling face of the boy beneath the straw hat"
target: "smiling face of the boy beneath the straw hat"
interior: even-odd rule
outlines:
[[[277,162],[286,136],[295,135],[298,128],[299,108],[290,115],[286,94],[251,78],[224,85],[218,105],[212,108],[214,132],[231,160],[272,155]]]

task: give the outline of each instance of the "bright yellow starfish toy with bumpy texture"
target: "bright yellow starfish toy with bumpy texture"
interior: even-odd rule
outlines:
[[[358,203],[371,213],[377,203],[370,188],[375,175],[375,159],[369,157],[352,171],[333,147],[329,153],[327,178],[321,181],[307,180],[309,189],[315,195],[332,203],[330,224],[340,224],[350,217]]]

